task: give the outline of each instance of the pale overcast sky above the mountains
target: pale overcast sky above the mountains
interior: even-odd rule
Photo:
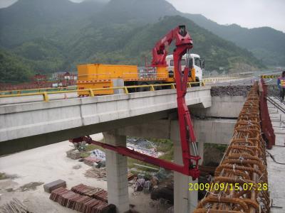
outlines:
[[[0,8],[9,6],[15,1],[17,0],[0,0]],[[217,23],[237,23],[247,28],[271,26],[285,32],[285,0],[167,1],[173,4],[178,11],[200,13]]]

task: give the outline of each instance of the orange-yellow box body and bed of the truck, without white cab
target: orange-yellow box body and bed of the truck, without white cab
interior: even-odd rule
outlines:
[[[115,80],[123,82],[120,86],[138,86],[150,84],[174,83],[173,72],[169,72],[167,67],[138,67],[134,65],[103,65],[86,64],[78,65],[78,89],[93,89],[93,94],[114,94],[114,89],[118,87]],[[195,71],[190,70],[189,82],[195,82]],[[104,88],[104,89],[100,89]],[[155,87],[164,89],[169,87]],[[131,88],[130,92],[143,92],[150,90],[150,87]],[[79,96],[90,95],[89,91],[78,91]]]

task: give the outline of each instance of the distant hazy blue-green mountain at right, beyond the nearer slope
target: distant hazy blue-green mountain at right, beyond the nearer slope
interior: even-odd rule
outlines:
[[[199,14],[185,13],[202,28],[232,41],[236,45],[254,53],[265,65],[285,66],[285,33],[273,28],[242,28],[237,24],[220,25]]]

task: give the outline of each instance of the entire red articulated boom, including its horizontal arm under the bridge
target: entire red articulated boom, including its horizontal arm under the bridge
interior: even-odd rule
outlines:
[[[189,64],[190,58],[187,58],[185,69],[181,70],[181,60],[182,56],[187,53],[187,56],[190,56],[190,49],[192,48],[192,39],[190,35],[187,33],[185,26],[178,26],[177,28],[167,33],[162,40],[160,40],[155,48],[152,50],[152,67],[160,67],[166,66],[166,55],[167,55],[167,46],[170,45],[172,40],[176,40],[175,45],[176,49],[173,53],[174,67],[175,67],[175,82],[177,89],[177,111],[178,111],[178,119],[180,126],[180,140],[182,147],[182,159],[183,165],[178,165],[176,163],[172,163],[166,160],[161,160],[159,158],[153,158],[149,155],[144,155],[142,153],[138,153],[136,151],[132,151],[123,146],[111,146],[106,143],[100,143],[98,141],[93,141],[89,136],[74,138],[70,141],[73,143],[86,141],[87,143],[93,143],[98,146],[102,146],[103,148],[107,148],[113,151],[116,151],[122,155],[126,155],[130,158],[135,158],[138,160],[142,160],[146,163],[152,163],[155,165],[159,165],[162,168],[167,170],[174,170],[178,173],[182,173],[185,175],[192,176],[195,180],[199,177],[198,170],[198,161],[200,159],[196,146],[196,138],[194,129],[192,126],[192,121],[190,117],[190,111],[185,102],[185,95],[187,93],[187,78],[189,74]],[[192,67],[191,67],[192,68]],[[195,155],[190,154],[190,143],[193,148]]]

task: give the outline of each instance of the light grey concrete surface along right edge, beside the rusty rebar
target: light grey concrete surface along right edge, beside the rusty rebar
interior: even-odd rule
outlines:
[[[285,104],[279,100],[274,99],[285,109]],[[276,136],[275,145],[268,152],[274,156],[274,160],[267,156],[267,171],[269,177],[269,190],[272,200],[271,212],[281,213],[285,212],[285,114],[274,107],[273,104],[267,102],[269,114]],[[284,163],[284,165],[279,164]]]

